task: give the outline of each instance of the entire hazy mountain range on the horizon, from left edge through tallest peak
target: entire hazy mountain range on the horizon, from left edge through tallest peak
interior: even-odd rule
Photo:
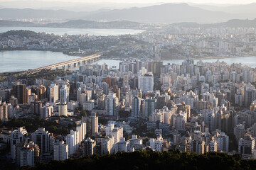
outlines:
[[[188,4],[161,4],[147,7],[133,7],[114,10],[99,10],[93,12],[75,12],[66,10],[41,10],[41,9],[0,9],[0,18],[14,20],[21,18],[57,18],[65,20],[87,21],[134,21],[141,23],[218,23],[238,18],[221,11],[209,11]]]

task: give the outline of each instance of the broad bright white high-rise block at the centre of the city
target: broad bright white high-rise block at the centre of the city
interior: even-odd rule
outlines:
[[[138,89],[142,91],[154,91],[154,77],[153,74],[139,75]]]

